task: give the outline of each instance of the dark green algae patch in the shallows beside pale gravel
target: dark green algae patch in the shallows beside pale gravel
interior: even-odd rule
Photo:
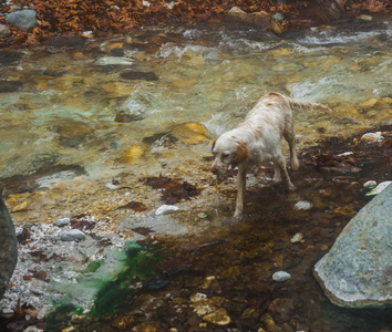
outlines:
[[[104,271],[101,268],[105,266],[105,261],[92,261],[84,272],[96,276],[81,278],[78,282],[80,291],[89,288],[94,290],[92,308],[73,303],[72,292],[64,294],[62,300],[55,303],[54,310],[45,317],[45,331],[60,331],[70,326],[75,315],[79,317],[78,329],[83,330],[103,318],[124,312],[143,283],[157,274],[161,251],[154,243],[138,245],[126,241],[116,258],[121,264],[114,274],[99,276]]]

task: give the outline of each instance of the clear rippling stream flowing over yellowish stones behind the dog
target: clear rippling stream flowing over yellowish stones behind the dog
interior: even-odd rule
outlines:
[[[318,139],[319,127],[333,136],[390,122],[382,105],[360,105],[391,96],[391,22],[362,25],[283,39],[216,27],[155,29],[83,46],[20,51],[19,61],[0,66],[2,81],[22,84],[1,93],[0,176],[53,164],[81,165],[99,176],[116,167],[125,147],[144,145],[143,138],[175,124],[202,123],[214,137],[268,91],[333,107],[330,115],[297,115],[302,145]],[[124,71],[153,72],[158,80],[124,80]],[[121,111],[138,121],[114,122]],[[159,142],[145,148],[143,165],[164,149]],[[179,148],[179,158],[198,153]]]

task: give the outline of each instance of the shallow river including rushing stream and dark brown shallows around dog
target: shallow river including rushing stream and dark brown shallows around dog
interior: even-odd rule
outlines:
[[[391,19],[283,38],[233,27],[161,27],[0,53],[0,178],[12,218],[17,226],[52,224],[85,212],[110,220],[123,238],[140,240],[135,227],[169,236],[162,246],[177,256],[168,263],[174,279],[138,292],[118,319],[111,311],[103,331],[391,329],[384,311],[333,307],[311,277],[312,264],[365,204],[359,193],[367,177],[390,179],[381,162],[342,177],[303,166],[292,175],[295,197],[262,191],[260,174],[251,174],[248,217],[240,222],[228,218],[234,178],[220,184],[208,173],[210,141],[269,91],[332,110],[296,114],[303,165],[310,152],[344,153],[358,141],[345,144],[347,137],[390,127],[391,37]],[[154,215],[162,189],[140,180],[159,174],[198,188],[199,197],[174,201],[182,210],[173,218]],[[118,209],[131,200],[146,208]],[[312,208],[295,209],[299,200]],[[296,234],[305,238],[297,246]],[[295,276],[288,284],[270,280],[280,269]],[[200,304],[195,297],[212,300]],[[220,309],[229,323],[205,319]]]

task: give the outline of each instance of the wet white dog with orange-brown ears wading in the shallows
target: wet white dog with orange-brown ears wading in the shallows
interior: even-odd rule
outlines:
[[[330,111],[321,104],[289,98],[276,92],[267,93],[248,113],[245,122],[214,141],[215,160],[212,172],[225,175],[230,167],[238,167],[235,217],[244,211],[246,173],[250,164],[272,162],[274,183],[282,181],[288,189],[295,189],[286,169],[286,158],[280,143],[281,137],[289,143],[291,168],[297,170],[299,163],[292,112],[303,108]]]

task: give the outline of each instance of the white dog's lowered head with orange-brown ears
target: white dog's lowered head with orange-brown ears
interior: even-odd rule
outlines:
[[[245,142],[236,136],[223,134],[213,143],[214,163],[212,172],[216,175],[225,175],[231,167],[246,162],[249,151]]]

